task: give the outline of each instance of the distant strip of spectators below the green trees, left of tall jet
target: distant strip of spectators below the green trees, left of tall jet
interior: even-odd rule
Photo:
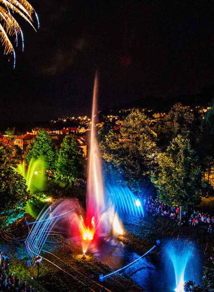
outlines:
[[[48,179],[55,179],[60,181],[65,181],[70,183],[70,185],[76,185],[76,186],[85,186],[86,181],[82,178],[72,177],[72,176],[66,176],[66,175],[60,175],[58,171],[56,170],[46,170],[45,172]]]

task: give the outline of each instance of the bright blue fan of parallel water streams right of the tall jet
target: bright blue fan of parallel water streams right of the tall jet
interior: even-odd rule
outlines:
[[[112,186],[107,184],[106,195],[107,200],[112,202],[118,214],[129,214],[138,217],[144,216],[144,210],[139,199],[127,186]]]

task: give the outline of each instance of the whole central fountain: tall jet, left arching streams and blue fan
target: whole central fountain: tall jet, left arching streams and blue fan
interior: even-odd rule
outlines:
[[[128,187],[110,185],[104,187],[102,162],[96,137],[97,96],[98,76],[96,74],[92,102],[86,212],[83,211],[77,200],[63,200],[50,205],[37,218],[35,225],[38,227],[32,228],[26,240],[26,247],[31,256],[40,254],[41,246],[44,245],[53,227],[59,228],[64,234],[67,234],[70,240],[81,244],[82,251],[85,253],[90,246],[93,251],[98,251],[102,242],[111,241],[111,239],[114,244],[113,239],[124,233],[119,215],[143,215],[139,199]],[[66,214],[66,216],[60,214]],[[53,216],[58,216],[56,221],[55,218],[53,220]],[[49,221],[50,223],[48,223]],[[45,225],[43,226],[43,224]]]

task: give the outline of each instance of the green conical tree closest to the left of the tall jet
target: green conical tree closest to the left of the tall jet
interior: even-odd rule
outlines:
[[[83,150],[73,136],[66,136],[59,151],[57,170],[62,175],[82,177],[84,170]]]

